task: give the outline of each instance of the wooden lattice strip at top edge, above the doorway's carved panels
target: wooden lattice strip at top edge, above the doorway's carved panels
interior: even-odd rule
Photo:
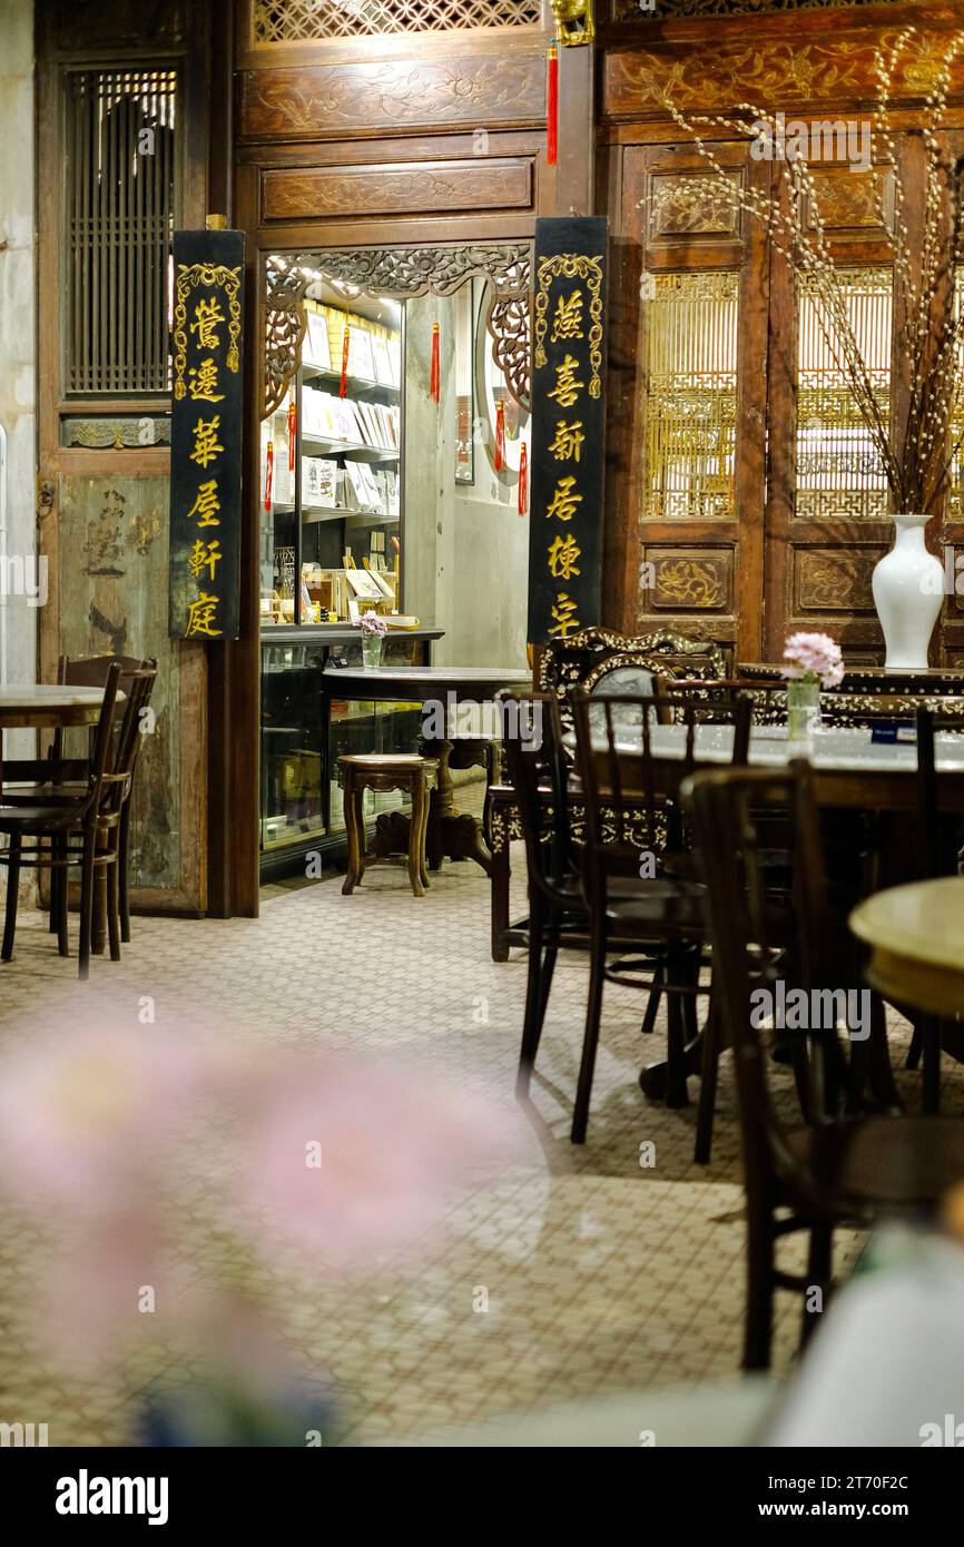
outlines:
[[[540,0],[255,0],[255,43],[538,26]]]

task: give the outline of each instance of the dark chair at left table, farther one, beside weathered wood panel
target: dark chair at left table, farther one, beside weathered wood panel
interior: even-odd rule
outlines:
[[[108,877],[108,910],[119,913],[121,941],[130,942],[130,817],[132,792],[141,749],[144,744],[145,715],[153,696],[158,662],[153,657],[144,661],[136,656],[60,656],[57,664],[57,682],[71,687],[104,687],[111,665],[119,665],[119,687],[125,695],[125,707],[113,750],[111,772],[125,774],[122,786],[119,814],[116,820],[104,828],[104,834],[116,848],[116,865],[107,871]],[[3,766],[3,798],[8,804],[23,806],[42,803],[62,803],[82,798],[87,780],[87,758],[65,756],[65,732],[59,729],[54,735],[50,755],[34,761],[9,761]],[[56,845],[54,845],[56,848]],[[115,877],[113,883],[110,877]],[[62,937],[67,930],[67,868],[51,868],[51,911],[50,928]],[[108,913],[110,925],[110,913]]]

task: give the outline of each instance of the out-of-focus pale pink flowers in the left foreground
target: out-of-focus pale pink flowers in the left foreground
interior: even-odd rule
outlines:
[[[381,1061],[263,1055],[223,1033],[56,1026],[0,1058],[5,1200],[54,1247],[37,1312],[60,1352],[149,1330],[144,1286],[158,1334],[234,1303],[237,1273],[229,1290],[189,1289],[198,1228],[229,1231],[272,1275],[288,1253],[313,1269],[382,1259],[467,1168],[506,1162],[500,1122]]]

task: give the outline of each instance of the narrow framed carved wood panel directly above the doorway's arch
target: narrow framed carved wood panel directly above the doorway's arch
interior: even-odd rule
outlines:
[[[262,173],[262,217],[330,220],[416,210],[529,209],[532,162],[409,162],[402,167],[271,167]]]

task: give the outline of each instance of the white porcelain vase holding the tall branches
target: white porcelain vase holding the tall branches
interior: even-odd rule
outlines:
[[[927,515],[894,515],[894,546],[874,568],[874,606],[888,670],[927,668],[927,647],[944,602],[944,569],[924,546],[928,520]]]

